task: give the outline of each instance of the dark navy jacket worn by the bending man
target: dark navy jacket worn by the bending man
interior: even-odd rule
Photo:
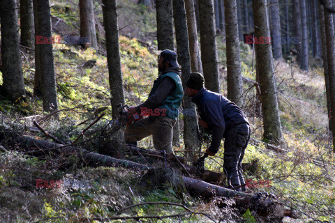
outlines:
[[[200,118],[207,122],[211,130],[209,151],[212,153],[218,152],[225,131],[234,125],[248,123],[242,110],[221,94],[203,88],[194,95],[192,101],[198,106]]]

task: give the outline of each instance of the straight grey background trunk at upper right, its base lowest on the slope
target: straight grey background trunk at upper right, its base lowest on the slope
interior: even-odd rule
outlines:
[[[299,0],[300,15],[301,15],[301,70],[308,70],[308,33],[307,33],[307,20],[306,20],[306,1]]]

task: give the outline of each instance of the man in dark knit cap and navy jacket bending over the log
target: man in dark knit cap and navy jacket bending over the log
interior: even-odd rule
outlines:
[[[198,72],[191,73],[186,82],[186,93],[193,97],[198,107],[200,125],[211,130],[211,146],[208,155],[215,155],[225,138],[223,169],[227,174],[228,187],[245,191],[241,162],[250,139],[250,127],[242,110],[223,95],[204,88],[204,77]]]

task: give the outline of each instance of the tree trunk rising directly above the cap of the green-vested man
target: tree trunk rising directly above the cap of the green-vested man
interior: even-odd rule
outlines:
[[[173,48],[172,0],[156,0],[158,50]]]

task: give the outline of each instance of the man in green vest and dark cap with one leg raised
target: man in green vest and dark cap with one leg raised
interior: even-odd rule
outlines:
[[[147,111],[149,117],[127,126],[124,139],[126,144],[137,145],[137,141],[152,134],[157,151],[173,153],[172,128],[184,95],[176,52],[170,49],[161,52],[158,56],[158,72],[149,98],[141,105],[128,109],[128,114]]]

